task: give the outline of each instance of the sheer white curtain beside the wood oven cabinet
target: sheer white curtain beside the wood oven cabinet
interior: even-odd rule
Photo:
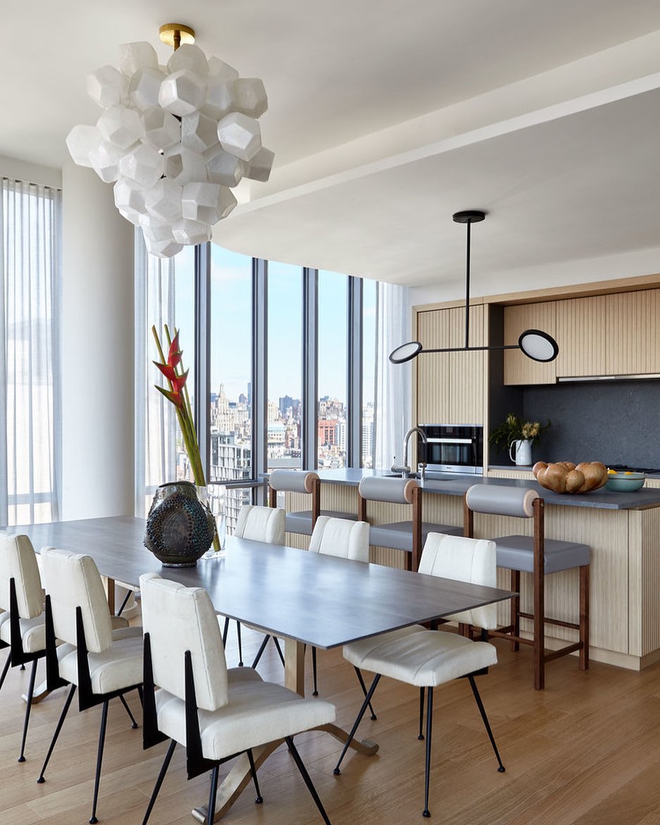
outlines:
[[[410,341],[408,287],[379,282],[376,295],[374,467],[403,460],[403,436],[410,427],[413,399],[410,364],[392,364],[389,353]]]

